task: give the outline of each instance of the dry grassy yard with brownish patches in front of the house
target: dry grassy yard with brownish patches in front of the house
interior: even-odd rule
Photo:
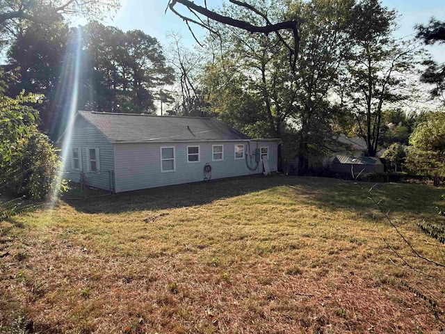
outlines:
[[[444,223],[445,189],[371,186],[245,177],[15,216],[0,223],[0,324],[33,321],[42,334],[444,331],[445,268],[412,256],[382,212],[445,263],[444,245],[416,225]]]

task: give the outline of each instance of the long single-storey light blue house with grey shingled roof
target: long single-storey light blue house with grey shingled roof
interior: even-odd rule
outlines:
[[[277,170],[279,139],[214,118],[79,111],[62,138],[65,178],[115,193]]]

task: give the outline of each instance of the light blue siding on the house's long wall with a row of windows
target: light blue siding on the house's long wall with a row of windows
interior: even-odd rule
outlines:
[[[204,180],[204,166],[212,167],[211,178],[234,177],[262,173],[261,163],[257,170],[251,171],[245,159],[235,159],[235,145],[246,142],[197,142],[197,143],[116,143],[115,157],[115,191],[131,191],[154,188]],[[224,146],[223,161],[212,161],[212,146]],[[175,147],[175,171],[161,172],[161,147]],[[187,146],[200,147],[200,161],[187,162]],[[259,141],[250,143],[250,153],[255,148],[268,147],[269,166],[277,170],[277,141]],[[254,159],[252,159],[254,163]],[[102,161],[101,161],[102,163]],[[255,164],[255,163],[254,163]]]

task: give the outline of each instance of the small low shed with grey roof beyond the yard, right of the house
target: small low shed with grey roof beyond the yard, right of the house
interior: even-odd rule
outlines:
[[[337,155],[331,163],[333,173],[351,173],[351,170],[358,174],[363,173],[383,173],[382,161],[377,157],[354,157],[347,155]]]

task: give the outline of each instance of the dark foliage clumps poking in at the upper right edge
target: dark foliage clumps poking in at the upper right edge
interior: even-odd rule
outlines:
[[[430,19],[428,26],[417,25],[417,38],[423,40],[426,45],[445,43],[445,22]],[[439,97],[445,103],[445,65],[439,65],[436,61],[429,59],[423,62],[426,70],[421,75],[421,81],[432,84],[435,88],[430,90],[432,97]]]

